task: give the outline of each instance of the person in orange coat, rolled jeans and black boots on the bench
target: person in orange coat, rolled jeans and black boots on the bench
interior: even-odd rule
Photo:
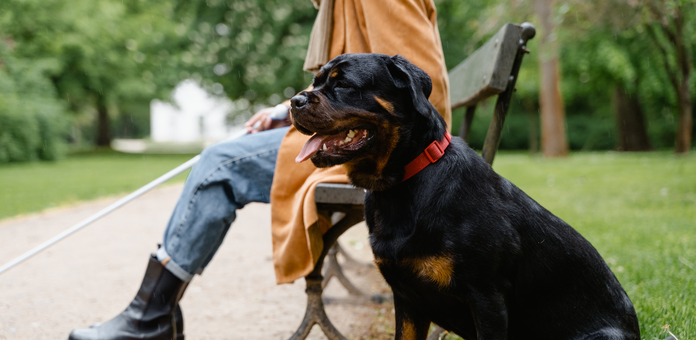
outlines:
[[[320,11],[305,70],[316,72],[343,53],[402,55],[430,75],[430,102],[450,125],[447,69],[433,0],[313,1]],[[273,111],[288,111],[288,102],[285,105],[251,117],[246,123],[248,135],[203,150],[134,300],[114,319],[74,329],[69,339],[182,339],[182,325],[175,323],[180,320],[178,301],[187,283],[210,263],[236,210],[247,203],[272,203],[278,283],[291,283],[312,271],[316,259],[308,249],[306,233],[317,232],[320,237],[330,225],[318,221],[316,211],[307,210],[303,203],[314,202],[312,183],[346,183],[347,177],[340,166],[316,169],[311,162],[295,163],[309,137],[290,127],[288,119],[271,121]],[[261,126],[251,128],[256,122]],[[305,196],[312,199],[305,200]],[[310,228],[317,222],[319,228]]]

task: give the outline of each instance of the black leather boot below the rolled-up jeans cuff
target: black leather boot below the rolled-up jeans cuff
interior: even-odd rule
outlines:
[[[186,286],[187,283],[166,270],[152,255],[143,283],[131,305],[108,322],[73,329],[68,339],[183,340],[183,317],[178,302]]]

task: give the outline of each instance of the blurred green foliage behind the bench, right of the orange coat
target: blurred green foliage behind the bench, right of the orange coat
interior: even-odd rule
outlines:
[[[560,42],[561,90],[571,149],[614,149],[616,123],[612,96],[617,87],[638,96],[653,147],[674,145],[676,98],[663,60],[641,21],[641,7],[629,3],[557,1],[553,20],[558,24],[555,38]],[[531,8],[533,1],[436,0],[435,4],[448,68],[464,60],[506,22],[531,21],[539,26]],[[693,22],[695,6],[690,6],[689,11],[687,19]],[[695,26],[686,27],[693,58],[696,37],[692,27]],[[522,64],[518,91],[513,95],[506,119],[506,125],[510,126],[504,130],[501,149],[528,147],[529,124],[538,121],[538,39],[528,44],[531,55]],[[492,106],[490,103],[477,108],[471,132],[473,147],[482,145]],[[453,117],[455,132],[460,126],[460,115],[463,111]]]

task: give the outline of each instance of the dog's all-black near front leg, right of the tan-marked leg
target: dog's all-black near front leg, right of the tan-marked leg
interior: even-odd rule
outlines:
[[[508,339],[508,309],[503,294],[495,288],[473,291],[469,306],[478,340]]]

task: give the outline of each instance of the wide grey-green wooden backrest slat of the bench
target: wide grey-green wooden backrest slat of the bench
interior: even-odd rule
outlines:
[[[493,38],[449,72],[452,109],[472,106],[505,91],[521,34],[521,26],[506,23]]]

